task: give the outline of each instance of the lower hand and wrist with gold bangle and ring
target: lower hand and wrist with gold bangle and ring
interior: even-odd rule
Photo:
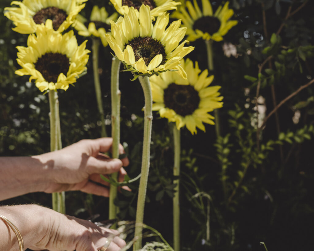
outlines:
[[[2,206],[0,214],[16,225],[23,236],[25,248],[32,250],[97,251],[108,240],[107,251],[118,251],[126,244],[116,230],[98,227],[92,222],[42,206]],[[13,231],[0,220],[0,250],[15,250],[17,246]]]

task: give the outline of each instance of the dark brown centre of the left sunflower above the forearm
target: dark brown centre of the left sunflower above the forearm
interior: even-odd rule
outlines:
[[[47,52],[38,58],[35,69],[41,73],[47,82],[57,83],[60,73],[67,75],[70,61],[61,53]]]

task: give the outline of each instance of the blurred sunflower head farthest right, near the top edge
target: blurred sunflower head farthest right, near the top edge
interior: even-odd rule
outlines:
[[[221,41],[222,37],[238,23],[236,20],[229,20],[234,13],[228,8],[229,2],[224,6],[220,5],[214,14],[209,0],[202,0],[203,12],[196,0],[193,0],[193,3],[194,7],[190,1],[187,1],[186,6],[181,6],[172,14],[172,17],[182,19],[182,26],[187,27],[189,41],[198,38]]]

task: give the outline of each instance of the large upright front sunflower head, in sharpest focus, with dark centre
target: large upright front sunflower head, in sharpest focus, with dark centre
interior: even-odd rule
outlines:
[[[125,67],[136,76],[158,74],[167,70],[177,70],[184,78],[186,73],[180,66],[181,59],[194,47],[180,45],[186,28],[179,28],[181,21],[168,25],[169,14],[160,15],[152,24],[150,8],[142,5],[139,20],[133,7],[117,23],[111,21],[112,35],[105,34],[111,49]]]

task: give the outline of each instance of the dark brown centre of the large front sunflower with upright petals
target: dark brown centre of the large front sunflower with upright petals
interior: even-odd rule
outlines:
[[[149,37],[135,37],[132,40],[128,41],[127,45],[130,45],[133,48],[135,61],[138,61],[141,57],[143,58],[146,66],[149,65],[149,62],[154,58],[154,56],[161,54],[162,61],[161,64],[165,64],[166,52],[165,46],[160,43],[160,41]]]

